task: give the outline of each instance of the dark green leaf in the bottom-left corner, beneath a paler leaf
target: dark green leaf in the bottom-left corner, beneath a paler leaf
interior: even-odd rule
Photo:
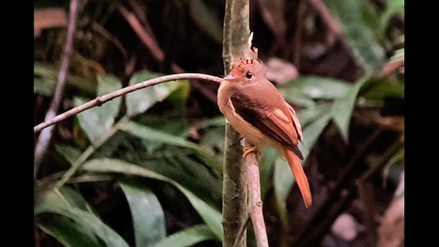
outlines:
[[[102,241],[86,228],[71,220],[71,218],[54,213],[41,213],[38,217],[38,227],[45,233],[55,237],[63,246],[68,247],[100,247]]]

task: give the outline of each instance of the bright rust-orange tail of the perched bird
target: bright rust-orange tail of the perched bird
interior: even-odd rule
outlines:
[[[288,165],[294,174],[294,178],[296,178],[296,183],[299,186],[303,201],[305,202],[305,207],[309,207],[311,206],[313,199],[311,197],[311,190],[309,189],[308,178],[303,171],[300,160],[298,156],[288,148],[283,148],[283,152],[285,154],[285,158],[287,158]]]

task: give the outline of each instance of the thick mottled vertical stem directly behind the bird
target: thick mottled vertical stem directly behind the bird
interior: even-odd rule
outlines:
[[[244,57],[248,49],[249,0],[226,0],[224,14],[223,60],[224,71],[230,72],[234,61]],[[239,226],[247,217],[247,169],[241,165],[242,146],[239,134],[226,123],[226,141],[224,143],[224,182],[222,202],[222,224],[224,226],[223,246],[233,246],[237,238]],[[246,232],[243,233],[244,236]],[[242,237],[236,246],[247,246]]]

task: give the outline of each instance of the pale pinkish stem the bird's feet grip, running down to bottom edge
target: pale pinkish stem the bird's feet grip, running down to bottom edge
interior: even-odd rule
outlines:
[[[254,153],[248,154],[245,166],[248,168],[248,213],[252,219],[257,247],[268,247],[267,231],[263,220],[259,164]]]

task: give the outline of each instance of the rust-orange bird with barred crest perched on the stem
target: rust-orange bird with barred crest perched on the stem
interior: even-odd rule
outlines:
[[[296,178],[305,207],[311,206],[311,190],[298,148],[302,128],[294,108],[268,80],[263,62],[245,58],[235,62],[219,84],[217,105],[230,125],[253,145],[244,148],[243,157],[250,152],[260,154],[264,147],[277,150]]]

